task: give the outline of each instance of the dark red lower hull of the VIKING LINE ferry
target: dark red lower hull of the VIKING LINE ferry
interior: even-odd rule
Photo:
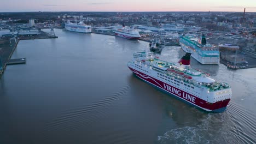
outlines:
[[[203,103],[203,104],[201,104],[201,105],[197,105],[197,104],[200,104],[200,102],[199,102],[198,100],[200,100],[200,101],[204,101],[204,100],[199,99],[199,98],[196,98],[196,99],[197,99],[197,101],[196,101],[197,104],[196,104],[196,103],[191,103],[190,101],[184,99],[183,97],[180,97],[180,96],[178,96],[178,95],[176,95],[176,94],[174,94],[174,93],[170,93],[170,92],[168,92],[165,88],[162,88],[162,85],[164,85],[164,84],[165,84],[165,85],[168,85],[167,83],[162,82],[162,81],[159,81],[159,80],[157,80],[157,79],[154,79],[154,77],[151,77],[151,76],[148,76],[147,74],[141,73],[140,71],[137,71],[137,70],[135,70],[135,69],[133,69],[133,68],[131,68],[131,67],[129,67],[129,69],[130,69],[130,70],[133,72],[133,74],[135,74],[139,79],[142,79],[143,81],[146,81],[146,82],[150,83],[151,85],[153,85],[154,87],[156,87],[156,88],[160,89],[161,91],[167,93],[168,95],[171,95],[171,96],[173,96],[173,97],[175,97],[175,98],[177,98],[177,99],[179,99],[179,100],[184,101],[185,103],[187,103],[187,104],[189,104],[189,105],[191,105],[191,106],[195,106],[196,108],[201,109],[201,110],[205,110],[205,111],[207,111],[207,112],[223,112],[223,111],[225,111],[226,106],[228,106],[228,103],[229,103],[229,101],[230,101],[230,99],[226,99],[226,100],[224,100],[224,101],[218,101],[217,103],[214,103],[214,104],[207,104],[207,102],[206,102],[206,103]],[[161,85],[161,87],[159,87],[158,85]],[[172,87],[173,87],[173,86],[172,86]],[[174,87],[174,88],[176,88],[176,87]],[[178,89],[178,88],[176,88],[176,89]],[[182,90],[179,89],[179,91],[182,91]],[[194,96],[194,97],[195,97],[195,96]],[[204,102],[205,102],[205,101],[204,101]],[[224,103],[223,103],[223,102],[224,102]],[[210,107],[210,109],[207,109],[207,108],[205,108],[205,107]],[[214,107],[215,109],[213,109],[213,107]]]

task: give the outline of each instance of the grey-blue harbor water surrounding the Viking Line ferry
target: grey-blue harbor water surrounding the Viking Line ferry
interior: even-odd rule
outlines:
[[[44,31],[49,31],[48,29]],[[0,143],[256,143],[255,68],[191,66],[232,87],[222,113],[185,104],[127,68],[149,43],[55,29],[57,39],[21,40],[0,79]],[[180,46],[158,56],[178,62]]]

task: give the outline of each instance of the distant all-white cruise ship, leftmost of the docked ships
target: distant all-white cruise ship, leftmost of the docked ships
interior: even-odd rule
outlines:
[[[72,32],[91,33],[91,26],[85,25],[82,21],[79,23],[67,22],[65,28]]]

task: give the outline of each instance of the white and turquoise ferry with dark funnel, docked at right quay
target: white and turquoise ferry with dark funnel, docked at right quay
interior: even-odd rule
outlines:
[[[192,53],[191,56],[201,64],[219,64],[219,50],[216,46],[206,43],[205,35],[202,35],[202,38],[183,35],[179,44],[185,52]]]

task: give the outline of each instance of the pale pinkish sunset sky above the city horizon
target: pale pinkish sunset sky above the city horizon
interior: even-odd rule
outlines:
[[[4,0],[11,11],[243,11],[256,12],[256,0]]]

